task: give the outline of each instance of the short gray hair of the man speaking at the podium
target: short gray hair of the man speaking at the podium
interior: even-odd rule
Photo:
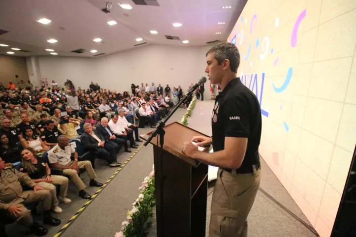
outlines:
[[[214,45],[209,49],[205,56],[210,53],[215,52],[215,59],[218,61],[219,65],[223,63],[225,59],[230,61],[230,69],[232,72],[237,73],[237,69],[240,65],[240,53],[236,45],[228,42],[223,42]]]

